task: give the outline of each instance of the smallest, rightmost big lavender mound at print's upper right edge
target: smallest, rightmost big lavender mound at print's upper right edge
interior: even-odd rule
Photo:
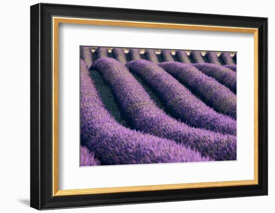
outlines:
[[[232,70],[215,65],[215,64],[193,64],[195,68],[197,68],[199,71],[203,72],[205,75],[210,76],[214,79],[216,79],[219,83],[225,85],[228,87],[232,92],[236,94],[236,87],[237,87],[237,81],[236,81],[236,73]]]

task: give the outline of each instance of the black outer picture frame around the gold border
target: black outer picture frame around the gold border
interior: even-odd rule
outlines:
[[[52,16],[258,29],[258,184],[52,196]],[[36,209],[267,195],[267,18],[74,5],[30,7],[30,206]]]

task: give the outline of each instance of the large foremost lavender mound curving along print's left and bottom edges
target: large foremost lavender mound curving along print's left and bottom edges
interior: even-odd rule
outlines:
[[[100,63],[101,60],[115,61],[103,58],[96,62]],[[103,165],[209,160],[208,157],[201,157],[198,152],[176,144],[172,140],[143,134],[118,124],[104,108],[87,66],[82,60],[80,61],[80,121],[81,144],[93,151]]]

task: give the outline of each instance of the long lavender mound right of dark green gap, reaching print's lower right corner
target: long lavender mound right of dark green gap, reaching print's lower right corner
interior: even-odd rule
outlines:
[[[192,128],[166,115],[124,65],[104,58],[97,60],[92,68],[102,73],[133,128],[177,141],[215,160],[236,159],[235,136]]]

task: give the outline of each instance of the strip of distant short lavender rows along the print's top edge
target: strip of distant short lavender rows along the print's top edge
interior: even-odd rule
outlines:
[[[136,48],[130,48],[127,51],[123,51],[121,48],[113,48],[111,49],[111,52],[108,52],[108,48],[96,48],[94,52],[99,56],[99,58],[102,56],[116,58],[117,56],[122,56],[121,53],[123,53],[124,56],[120,57],[119,60],[121,63],[126,63],[130,60],[146,59],[153,63],[177,61],[184,64],[211,63],[216,65],[226,65],[227,67],[234,67],[232,65],[236,64],[236,54],[231,56],[228,52],[222,52],[219,55],[217,55],[216,52],[206,52],[202,55],[202,52],[200,51],[191,51],[187,55],[186,51],[182,50],[155,51],[152,49],[146,49],[140,51],[140,49]]]

